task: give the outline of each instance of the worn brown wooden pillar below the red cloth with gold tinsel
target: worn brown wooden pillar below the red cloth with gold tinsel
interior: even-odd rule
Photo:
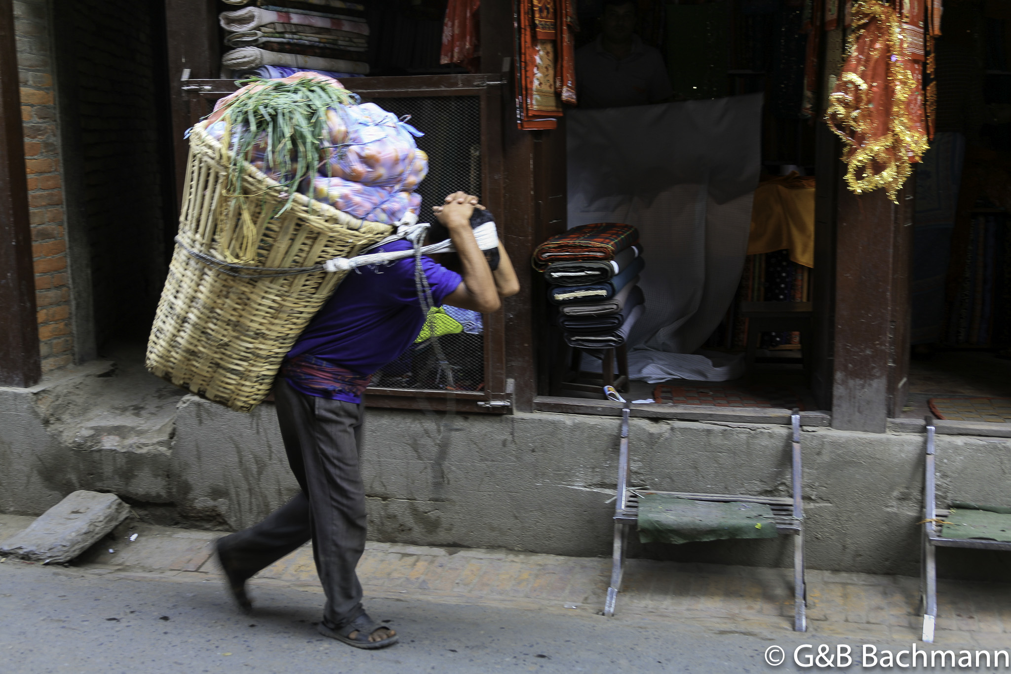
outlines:
[[[839,188],[832,426],[885,432],[906,401],[912,186]]]

